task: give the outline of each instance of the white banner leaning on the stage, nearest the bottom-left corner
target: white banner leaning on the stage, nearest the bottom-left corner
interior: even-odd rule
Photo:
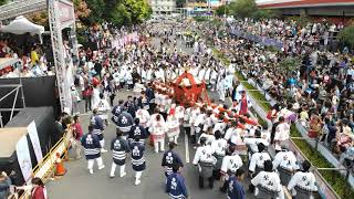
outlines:
[[[25,182],[28,182],[32,178],[32,163],[27,136],[22,136],[18,142],[18,144],[15,145],[15,153],[18,155],[18,161],[22,171],[23,179]]]

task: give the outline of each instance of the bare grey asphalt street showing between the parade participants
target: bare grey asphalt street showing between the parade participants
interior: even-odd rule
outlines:
[[[159,41],[154,39],[153,42],[159,45]],[[178,49],[183,49],[185,53],[191,53],[191,49],[185,49],[181,41],[177,42]],[[121,92],[117,94],[115,101],[123,98],[126,100],[127,95],[132,93]],[[217,98],[216,94],[210,94],[210,97]],[[228,102],[230,103],[230,102]],[[90,114],[81,117],[83,129],[86,132],[88,125]],[[104,133],[106,149],[111,144],[111,140],[115,136],[115,125],[108,125]],[[183,176],[186,178],[187,189],[191,199],[220,199],[227,198],[226,195],[221,193],[218,189],[220,182],[215,182],[215,188],[199,189],[198,187],[198,172],[191,161],[194,158],[195,149],[188,145],[188,140],[184,134],[180,134],[178,139],[179,145],[176,150],[180,155],[185,167],[183,168]],[[167,148],[167,144],[166,147]],[[119,199],[166,199],[168,196],[165,193],[165,176],[163,167],[160,166],[163,154],[155,154],[153,147],[147,146],[145,154],[147,169],[144,171],[142,177],[142,184],[134,186],[134,171],[132,170],[132,163],[128,158],[126,164],[127,175],[123,178],[118,177],[118,169],[116,170],[116,177],[111,179],[108,177],[112,164],[111,151],[103,154],[104,164],[106,166],[103,170],[97,170],[95,166],[94,174],[91,176],[86,169],[86,160],[71,160],[65,163],[67,174],[59,180],[49,181],[48,191],[49,197],[52,199],[106,199],[106,198],[119,198]],[[207,181],[206,181],[207,185]],[[247,189],[249,185],[248,179],[244,182]],[[207,186],[206,186],[207,187]],[[247,193],[247,198],[254,198]]]

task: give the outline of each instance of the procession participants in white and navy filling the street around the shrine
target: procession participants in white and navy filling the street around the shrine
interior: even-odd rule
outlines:
[[[184,25],[195,29],[192,23]],[[110,145],[112,178],[117,166],[119,176],[126,175],[125,166],[131,156],[136,171],[134,184],[139,185],[148,166],[145,150],[150,144],[155,153],[164,153],[166,191],[171,198],[187,198],[185,179],[178,172],[184,164],[174,150],[179,135],[185,133],[196,149],[192,164],[199,168],[200,188],[205,187],[206,179],[210,188],[215,180],[220,180],[222,192],[228,192],[230,198],[244,198],[241,180],[248,168],[252,178],[250,190],[258,196],[283,198],[283,185],[289,185],[294,195],[316,191],[310,164],[298,165],[295,155],[285,147],[290,137],[285,121],[289,113],[273,115],[279,124],[272,133],[243,119],[250,117],[251,103],[242,85],[233,78],[237,65],[221,63],[202,39],[187,46],[192,48],[194,53],[178,52],[177,43],[189,41],[177,40],[175,34],[179,30],[176,27],[140,28],[145,36],[138,42],[119,50],[100,49],[95,52],[96,59],[90,57],[87,51],[82,53],[77,85],[83,91],[86,111],[92,109],[93,115],[88,134],[77,140],[84,147],[88,172],[94,172],[95,160],[98,169],[105,167],[101,156],[107,153],[104,135],[112,121],[116,126],[116,138]],[[205,81],[210,91],[218,91],[217,103],[215,100],[211,104],[175,101],[170,83],[186,71],[197,83]],[[185,81],[184,85],[191,83]],[[133,91],[135,96],[115,104],[114,98],[122,90]],[[226,105],[227,96],[233,101],[231,106]],[[169,149],[165,151],[166,139]],[[274,160],[267,151],[270,145],[278,151]],[[248,157],[248,163],[242,160],[242,155]],[[298,171],[300,168],[302,170]],[[292,174],[295,175],[292,177]]]

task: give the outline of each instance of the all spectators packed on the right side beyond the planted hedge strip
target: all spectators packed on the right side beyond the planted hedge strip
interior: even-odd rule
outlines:
[[[237,22],[243,31],[256,29],[254,34],[275,39],[277,36],[268,31],[278,27],[279,33],[283,34],[277,35],[284,36],[284,43],[294,39],[285,36],[288,34],[295,35],[301,41],[309,41],[306,35],[322,35],[321,32],[327,29],[330,32],[339,31],[335,30],[335,25],[325,25],[326,23],[309,24],[305,28],[290,25],[295,29],[291,31],[287,24],[292,23],[280,20]],[[264,25],[273,28],[263,32]],[[342,25],[337,25],[337,29],[342,29]],[[295,48],[298,51],[289,54],[232,35],[215,39],[214,43],[220,52],[231,57],[231,65],[244,77],[252,78],[268,96],[277,101],[271,111],[273,114],[287,112],[288,119],[295,122],[298,118],[308,128],[310,137],[319,138],[334,154],[341,155],[352,149],[354,66],[353,55],[348,53],[347,48],[343,52],[331,52],[320,50],[319,46],[324,45],[321,42],[320,45],[296,42],[301,48]],[[288,69],[285,61],[289,56],[296,63]],[[273,122],[277,124],[277,121]]]

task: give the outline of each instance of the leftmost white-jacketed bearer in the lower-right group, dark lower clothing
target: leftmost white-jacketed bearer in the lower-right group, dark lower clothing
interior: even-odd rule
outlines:
[[[216,164],[216,158],[212,156],[212,148],[206,144],[207,138],[200,138],[200,146],[197,148],[192,164],[198,167],[199,188],[204,188],[205,178],[209,181],[209,187],[214,187],[212,170]]]

